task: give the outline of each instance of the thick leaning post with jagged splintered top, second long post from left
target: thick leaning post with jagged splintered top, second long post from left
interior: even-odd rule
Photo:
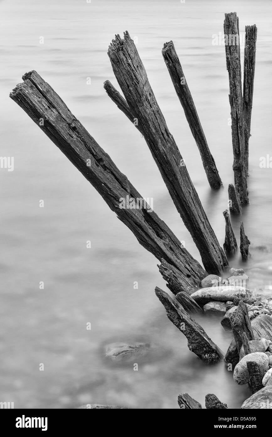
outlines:
[[[228,267],[228,260],[207,219],[173,135],[167,128],[143,62],[128,32],[124,33],[123,40],[119,35],[112,40],[108,55],[130,114],[146,139],[173,202],[201,254],[205,269],[209,273],[221,273]],[[110,90],[111,87],[107,92]],[[115,92],[111,98],[116,99]]]

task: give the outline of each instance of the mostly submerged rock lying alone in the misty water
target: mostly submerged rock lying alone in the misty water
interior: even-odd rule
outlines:
[[[130,361],[150,352],[148,343],[110,343],[105,346],[105,357],[113,362]]]

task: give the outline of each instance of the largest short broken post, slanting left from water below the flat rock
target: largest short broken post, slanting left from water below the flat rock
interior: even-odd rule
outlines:
[[[187,337],[189,349],[201,360],[213,363],[221,361],[222,351],[182,306],[158,287],[155,288],[155,293],[166,309],[168,319]]]

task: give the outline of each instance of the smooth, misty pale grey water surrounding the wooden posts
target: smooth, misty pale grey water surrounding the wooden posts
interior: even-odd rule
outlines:
[[[15,408],[107,403],[170,409],[179,408],[177,396],[188,392],[203,406],[205,395],[214,393],[229,408],[240,408],[249,388],[236,385],[224,363],[200,361],[167,319],[154,293],[156,285],[167,290],[158,260],[9,93],[25,72],[37,70],[142,196],[153,198],[156,213],[201,261],[146,142],[103,89],[107,79],[119,89],[107,49],[116,33],[128,30],[135,38],[167,125],[223,245],[222,212],[233,183],[233,154],[225,50],[212,44],[212,35],[223,33],[225,12],[237,12],[241,34],[246,24],[256,24],[250,205],[243,209],[252,257],[241,264],[238,253],[231,267],[245,268],[251,290],[271,294],[272,169],[260,168],[259,162],[271,153],[272,3],[3,0],[0,10],[1,156],[14,156],[14,171],[0,169],[0,401],[14,402]],[[161,55],[163,43],[171,39],[224,183],[218,192],[207,183]],[[237,238],[240,220],[232,219]],[[225,352],[232,336],[220,317],[198,321]],[[103,347],[112,341],[145,341],[159,352],[138,360],[139,370],[133,371],[132,364],[110,365],[104,359]]]

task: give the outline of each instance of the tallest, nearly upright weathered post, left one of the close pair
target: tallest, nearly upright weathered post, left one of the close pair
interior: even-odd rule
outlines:
[[[248,203],[247,172],[245,160],[245,133],[242,105],[241,61],[239,25],[236,12],[225,14],[225,50],[230,84],[231,133],[235,188],[241,205]]]

